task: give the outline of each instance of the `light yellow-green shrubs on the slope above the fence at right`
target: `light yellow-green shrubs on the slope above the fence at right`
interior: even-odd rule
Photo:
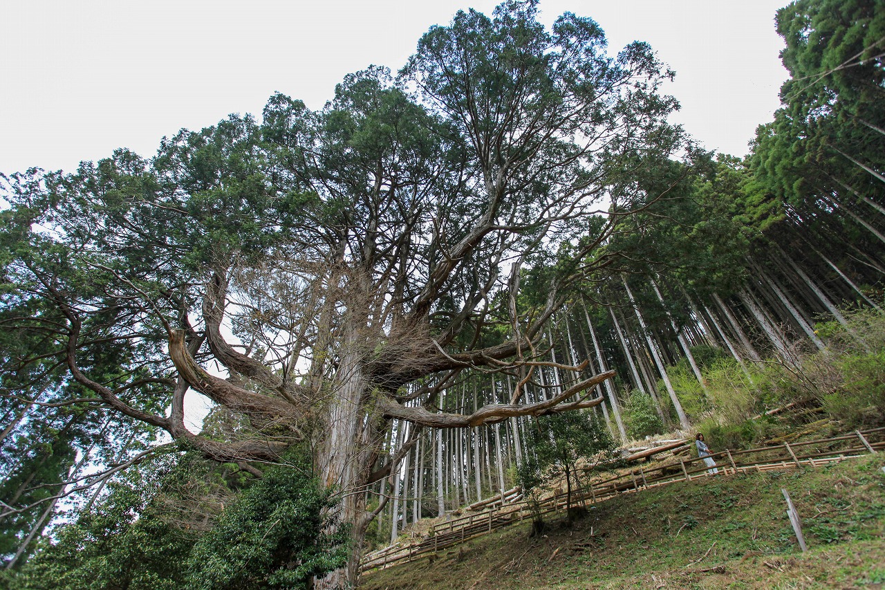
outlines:
[[[844,310],[843,315],[844,325],[815,326],[826,345],[822,351],[797,345],[788,360],[748,362],[747,371],[730,359],[712,361],[704,369],[705,412],[697,411],[703,406],[687,365],[673,369],[671,379],[682,390],[680,400],[696,427],[715,446],[747,446],[776,430],[768,421],[752,420],[753,415],[791,403],[820,407],[849,428],[885,425],[885,315],[872,309]],[[798,419],[807,420],[801,413]]]

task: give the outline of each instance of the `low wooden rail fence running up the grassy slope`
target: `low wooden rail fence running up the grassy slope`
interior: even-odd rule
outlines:
[[[693,441],[686,441],[690,445]],[[673,445],[662,446],[656,451],[673,449]],[[635,493],[658,485],[673,484],[678,481],[691,481],[697,477],[734,475],[735,473],[761,472],[766,470],[797,469],[819,467],[831,462],[876,453],[885,449],[885,428],[868,431],[854,431],[832,439],[808,440],[797,443],[784,443],[776,446],[732,451],[726,449],[712,454],[717,463],[716,472],[704,465],[703,459],[679,459],[653,469],[630,468],[614,477],[590,480],[589,485],[572,491],[573,506],[587,506],[613,498],[621,493]],[[653,454],[653,453],[646,453]],[[503,496],[503,498],[502,498]],[[394,544],[383,547],[363,556],[360,571],[384,568],[393,563],[411,561],[419,555],[434,553],[452,547],[466,540],[489,534],[511,524],[531,518],[532,512],[527,501],[520,500],[518,488],[503,494],[471,504],[466,508],[472,513],[454,518],[431,528],[426,538],[418,543],[403,546]],[[540,513],[556,513],[566,507],[566,493],[558,493],[541,501]],[[481,512],[474,512],[481,510]]]

